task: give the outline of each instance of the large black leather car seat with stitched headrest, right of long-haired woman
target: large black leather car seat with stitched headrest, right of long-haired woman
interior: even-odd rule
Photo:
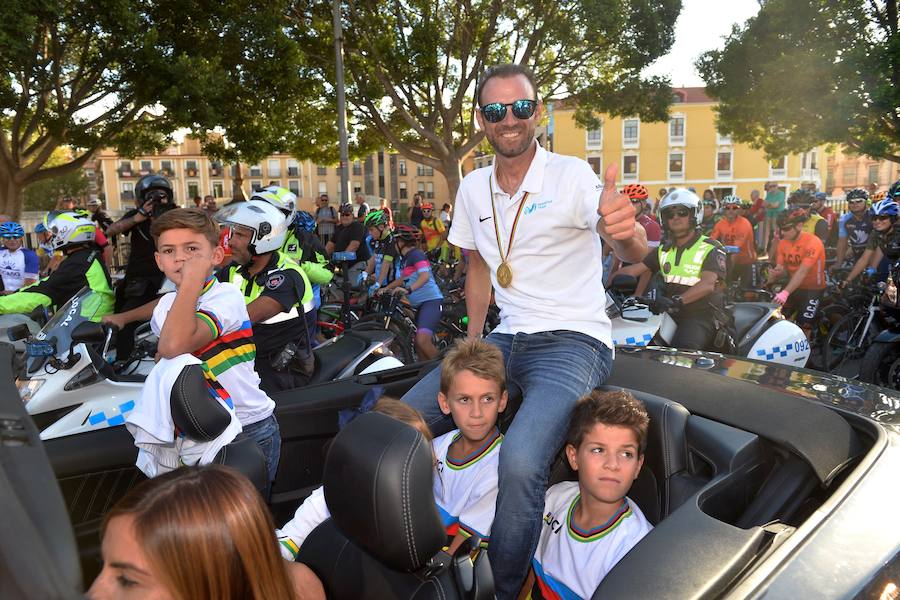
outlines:
[[[446,532],[432,488],[431,444],[412,427],[366,413],[335,437],[325,462],[331,519],[298,560],[330,599],[492,598],[484,553],[475,565],[441,551]],[[460,563],[469,562],[468,570]]]

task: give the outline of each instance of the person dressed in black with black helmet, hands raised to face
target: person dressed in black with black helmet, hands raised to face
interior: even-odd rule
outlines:
[[[156,243],[150,235],[150,223],[175,208],[172,184],[156,173],[144,175],[134,186],[134,198],[136,207],[106,228],[109,238],[115,238],[120,233],[131,234],[125,279],[116,288],[117,313],[143,306],[156,298],[165,279],[153,257]],[[131,354],[136,326],[135,323],[123,327],[116,336],[116,357],[119,360]]]

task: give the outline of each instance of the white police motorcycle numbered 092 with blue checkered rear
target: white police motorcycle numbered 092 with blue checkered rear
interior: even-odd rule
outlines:
[[[678,324],[668,314],[650,312],[648,299],[629,296],[633,277],[619,277],[607,291],[606,314],[612,321],[616,346],[671,346]],[[809,340],[795,323],[786,320],[777,304],[736,302],[726,307],[734,318],[734,354],[792,367],[806,366]]]

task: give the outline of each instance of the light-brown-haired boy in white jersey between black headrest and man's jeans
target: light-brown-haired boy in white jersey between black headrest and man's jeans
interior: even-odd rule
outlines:
[[[480,339],[456,343],[441,362],[438,404],[458,429],[432,442],[437,473],[434,499],[451,555],[471,536],[486,546],[497,503],[497,466],[503,435],[497,417],[506,408],[503,353]]]

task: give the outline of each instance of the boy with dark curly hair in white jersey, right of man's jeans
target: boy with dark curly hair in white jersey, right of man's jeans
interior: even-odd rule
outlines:
[[[566,458],[578,481],[547,490],[541,538],[519,599],[590,598],[652,526],[626,494],[644,464],[644,405],[625,391],[578,401]]]

